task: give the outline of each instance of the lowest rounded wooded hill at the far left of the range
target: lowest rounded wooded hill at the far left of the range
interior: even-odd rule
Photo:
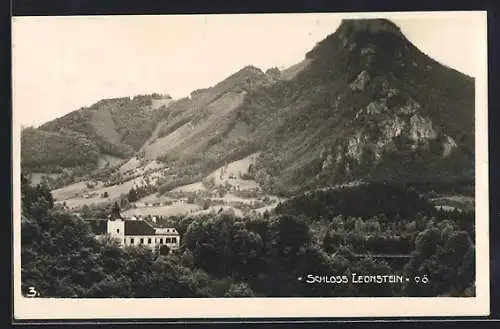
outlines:
[[[91,170],[104,156],[126,159],[150,137],[170,96],[106,99],[21,134],[23,168],[60,172]]]

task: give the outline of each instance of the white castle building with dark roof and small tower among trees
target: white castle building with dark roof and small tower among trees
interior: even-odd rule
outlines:
[[[180,235],[175,228],[153,227],[142,219],[110,216],[108,219],[87,219],[87,221],[96,236],[116,238],[122,246],[143,245],[152,250],[167,246],[173,251],[180,245]]]

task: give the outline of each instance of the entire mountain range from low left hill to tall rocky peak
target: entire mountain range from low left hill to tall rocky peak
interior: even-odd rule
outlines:
[[[343,20],[281,72],[247,66],[190,97],[152,104],[151,96],[101,101],[23,132],[23,167],[95,167],[106,154],[158,160],[168,168],[160,192],[252,154],[248,174],[268,193],[474,180],[474,79],[384,19]]]

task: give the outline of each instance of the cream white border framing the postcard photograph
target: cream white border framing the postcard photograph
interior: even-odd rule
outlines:
[[[304,14],[307,15],[307,14]],[[489,205],[486,11],[331,14],[343,18],[415,18],[479,15],[485,40],[476,77],[476,297],[473,298],[191,298],[32,299],[21,295],[20,211],[14,211],[14,318],[180,319],[271,317],[399,317],[489,315]],[[449,17],[449,16],[448,16]],[[332,31],[333,33],[334,31]],[[318,40],[319,41],[319,40]],[[459,54],[457,54],[459,55]],[[15,58],[13,58],[15,61]],[[13,76],[15,79],[15,76]],[[16,93],[13,91],[13,108]],[[13,110],[13,122],[18,122]],[[13,206],[20,209],[20,126],[13,125]]]

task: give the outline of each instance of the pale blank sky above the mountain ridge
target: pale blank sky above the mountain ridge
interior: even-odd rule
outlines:
[[[484,64],[484,14],[366,15],[391,19],[421,51],[468,75]],[[38,126],[104,98],[181,98],[247,65],[286,68],[342,18],[366,15],[14,17],[14,121]]]

